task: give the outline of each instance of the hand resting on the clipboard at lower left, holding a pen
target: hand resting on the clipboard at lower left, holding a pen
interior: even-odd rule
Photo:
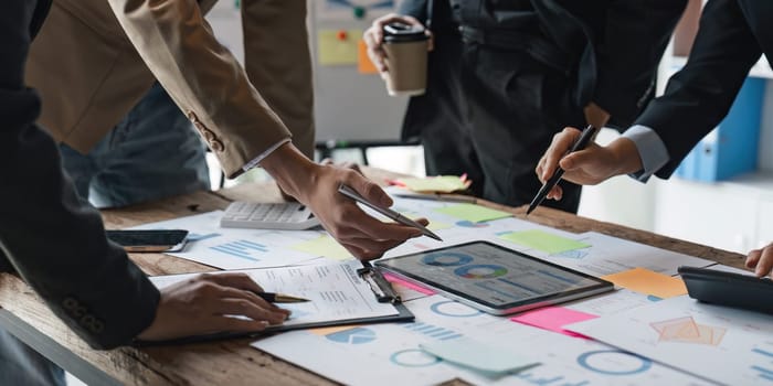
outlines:
[[[156,318],[137,337],[160,341],[221,331],[262,331],[287,319],[288,310],[253,291],[263,289],[245,274],[203,274],[166,287]]]

